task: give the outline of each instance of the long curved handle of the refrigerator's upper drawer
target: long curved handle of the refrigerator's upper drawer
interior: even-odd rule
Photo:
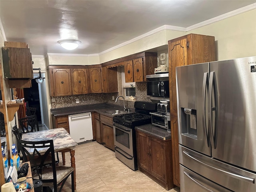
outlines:
[[[226,175],[228,175],[228,176],[230,176],[230,177],[233,177],[233,178],[236,178],[236,179],[239,179],[239,180],[242,180],[242,181],[254,183],[254,180],[255,180],[255,179],[252,178],[252,177],[242,176],[242,175],[238,175],[238,174],[234,174],[234,173],[230,173],[230,172],[228,172],[228,171],[224,171],[224,170],[218,169],[218,168],[213,167],[213,166],[210,166],[210,165],[208,165],[208,164],[206,164],[206,163],[204,163],[204,162],[201,162],[200,160],[196,159],[195,157],[193,157],[191,154],[189,154],[189,153],[186,152],[186,151],[182,151],[182,152],[183,152],[184,154],[186,154],[188,157],[192,158],[193,160],[197,161],[198,163],[200,163],[200,164],[202,164],[202,165],[204,165],[204,166],[206,166],[206,167],[208,167],[208,168],[211,168],[211,169],[213,169],[213,170],[218,170],[218,171],[220,171],[220,172],[222,172],[222,173],[224,173],[224,174],[226,174]]]

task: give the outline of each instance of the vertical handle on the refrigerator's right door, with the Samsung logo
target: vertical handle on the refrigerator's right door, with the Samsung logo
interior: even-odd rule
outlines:
[[[212,90],[214,93],[214,98],[212,98]],[[214,99],[214,107],[212,106],[212,100]],[[214,146],[214,149],[217,147],[217,135],[218,135],[218,100],[217,100],[217,86],[215,82],[215,72],[210,72],[210,78],[209,78],[209,94],[208,94],[208,118],[210,120],[209,124],[209,131],[211,135],[211,142]],[[212,112],[215,112],[215,119],[214,119],[214,130],[212,126]]]

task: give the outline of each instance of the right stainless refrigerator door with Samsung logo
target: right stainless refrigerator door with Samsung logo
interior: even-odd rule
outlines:
[[[256,172],[256,57],[210,62],[212,157]]]

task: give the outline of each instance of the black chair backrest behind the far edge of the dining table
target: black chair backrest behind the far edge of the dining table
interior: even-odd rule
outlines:
[[[36,115],[27,116],[19,119],[20,128],[22,132],[32,132],[33,130],[39,131],[38,121]]]

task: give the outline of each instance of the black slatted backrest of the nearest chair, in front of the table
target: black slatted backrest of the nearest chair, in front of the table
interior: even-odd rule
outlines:
[[[19,146],[21,147],[21,152],[24,161],[30,161],[30,164],[33,165],[33,171],[36,172],[36,175],[42,182],[53,182],[57,183],[56,176],[56,164],[55,164],[55,155],[54,155],[54,145],[53,140],[44,140],[44,141],[24,141],[18,140]],[[43,152],[42,152],[43,151]],[[51,156],[52,160],[52,177],[44,179],[42,177],[45,162],[48,157]],[[34,178],[34,176],[33,176]]]

